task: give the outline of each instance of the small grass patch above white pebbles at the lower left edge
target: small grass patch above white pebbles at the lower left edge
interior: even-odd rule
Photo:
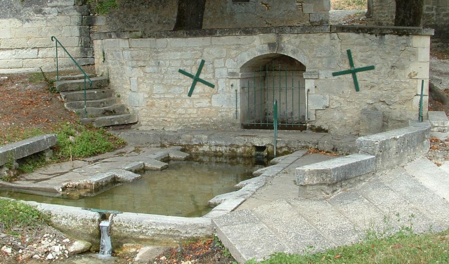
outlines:
[[[31,205],[0,199],[0,223],[5,233],[17,234],[17,228],[37,227],[48,219]]]

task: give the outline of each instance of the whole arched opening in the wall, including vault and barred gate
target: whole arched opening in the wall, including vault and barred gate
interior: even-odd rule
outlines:
[[[281,129],[305,129],[306,66],[292,56],[269,51],[258,48],[239,57],[240,122],[244,128],[272,129],[276,102]]]

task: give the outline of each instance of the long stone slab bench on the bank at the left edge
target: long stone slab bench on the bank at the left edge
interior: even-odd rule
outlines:
[[[56,144],[56,135],[43,135],[0,147],[0,166],[44,151]]]

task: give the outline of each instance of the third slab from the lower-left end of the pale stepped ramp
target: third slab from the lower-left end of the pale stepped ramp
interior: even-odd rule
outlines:
[[[335,246],[355,243],[360,240],[363,230],[344,217],[324,199],[295,198],[290,205]],[[293,221],[293,219],[292,219]]]

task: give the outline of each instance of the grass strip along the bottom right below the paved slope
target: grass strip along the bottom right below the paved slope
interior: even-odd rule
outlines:
[[[373,235],[374,234],[374,235]],[[253,260],[246,264],[254,264]],[[414,234],[411,229],[380,237],[370,233],[357,244],[316,254],[276,253],[261,264],[447,264],[449,230]]]

